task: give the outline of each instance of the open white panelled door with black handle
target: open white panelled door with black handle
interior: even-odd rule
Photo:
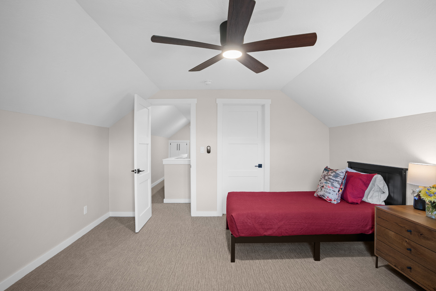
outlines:
[[[135,94],[133,125],[135,173],[135,232],[151,217],[151,128],[150,103]]]

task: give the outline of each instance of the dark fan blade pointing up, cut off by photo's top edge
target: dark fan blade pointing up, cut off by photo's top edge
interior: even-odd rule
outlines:
[[[230,0],[227,17],[227,45],[242,45],[254,10],[254,0]]]

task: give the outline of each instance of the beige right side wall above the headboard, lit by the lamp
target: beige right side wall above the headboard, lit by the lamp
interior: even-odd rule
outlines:
[[[330,127],[330,166],[347,161],[407,168],[436,164],[436,112]],[[407,204],[414,185],[407,184]]]

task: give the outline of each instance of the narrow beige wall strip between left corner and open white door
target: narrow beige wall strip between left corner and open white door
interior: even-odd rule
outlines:
[[[109,128],[109,211],[135,211],[133,110]]]

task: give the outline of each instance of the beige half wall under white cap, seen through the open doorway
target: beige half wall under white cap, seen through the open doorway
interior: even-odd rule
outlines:
[[[165,164],[165,199],[191,199],[191,165]]]

